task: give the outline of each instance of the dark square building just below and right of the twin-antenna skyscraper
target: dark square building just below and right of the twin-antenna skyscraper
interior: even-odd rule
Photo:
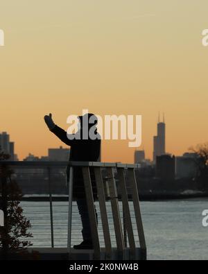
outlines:
[[[156,177],[166,182],[175,179],[175,156],[161,155],[156,157]]]

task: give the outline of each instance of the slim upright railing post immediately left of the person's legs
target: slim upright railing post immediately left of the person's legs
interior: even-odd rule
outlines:
[[[73,166],[69,169],[69,211],[68,211],[68,236],[67,236],[67,248],[71,250],[71,217],[72,217],[72,200],[73,200]]]

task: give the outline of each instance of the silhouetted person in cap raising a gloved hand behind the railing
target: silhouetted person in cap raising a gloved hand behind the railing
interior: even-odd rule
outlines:
[[[84,116],[79,116],[78,119],[79,130],[75,134],[68,135],[65,130],[55,125],[51,113],[44,117],[49,130],[51,130],[51,132],[53,132],[60,140],[62,140],[64,144],[71,146],[69,161],[96,162],[99,160],[101,153],[101,137],[98,135],[96,129],[96,123],[98,122],[98,119],[94,114],[91,113],[87,113]],[[87,126],[85,121],[87,121]],[[95,139],[91,138],[90,129],[93,130],[94,136],[96,136]],[[92,178],[93,195],[94,198],[96,198],[96,183],[94,180],[94,172],[91,168],[89,168],[89,171]],[[67,177],[69,178],[68,168]],[[73,198],[76,199],[78,210],[83,223],[83,242],[79,245],[73,246],[73,248],[92,249],[92,234],[89,225],[85,185],[83,181],[82,168],[80,166],[73,167]]]

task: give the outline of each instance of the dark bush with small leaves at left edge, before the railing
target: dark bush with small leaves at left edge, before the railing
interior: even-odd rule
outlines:
[[[27,232],[31,228],[31,223],[23,215],[20,205],[21,189],[17,182],[12,180],[12,170],[4,161],[9,157],[5,153],[0,153],[1,209],[4,212],[4,226],[0,228],[0,248],[4,259],[7,259],[10,252],[25,254],[26,248],[32,246],[31,241],[25,239],[33,237]]]

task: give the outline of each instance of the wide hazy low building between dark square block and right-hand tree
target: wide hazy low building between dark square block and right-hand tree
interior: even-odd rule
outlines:
[[[176,157],[176,177],[177,178],[194,178],[198,173],[196,164],[197,153],[184,153]]]

